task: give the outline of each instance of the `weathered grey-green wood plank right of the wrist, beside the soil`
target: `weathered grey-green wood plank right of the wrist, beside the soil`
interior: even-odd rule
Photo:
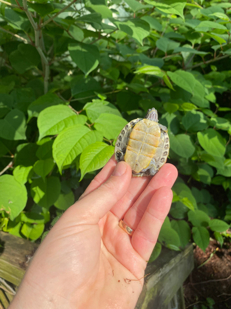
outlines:
[[[172,297],[183,285],[193,270],[193,245],[182,252],[163,248],[160,256],[148,264],[144,287],[136,304],[136,309],[166,309]]]

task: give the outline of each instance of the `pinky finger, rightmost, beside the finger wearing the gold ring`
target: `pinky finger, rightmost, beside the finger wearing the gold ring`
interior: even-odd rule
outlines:
[[[148,260],[156,244],[160,228],[172,203],[172,190],[159,188],[148,204],[133,236],[132,246],[144,259]]]

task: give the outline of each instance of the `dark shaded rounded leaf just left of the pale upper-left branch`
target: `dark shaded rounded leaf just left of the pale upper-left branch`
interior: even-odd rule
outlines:
[[[10,53],[9,59],[19,74],[38,66],[41,61],[37,49],[30,44],[19,44],[18,49]]]

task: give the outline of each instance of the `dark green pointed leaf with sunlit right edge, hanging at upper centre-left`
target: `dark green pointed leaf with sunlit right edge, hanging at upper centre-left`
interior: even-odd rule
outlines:
[[[88,75],[99,64],[99,50],[95,45],[71,43],[68,50],[72,60],[85,75]]]

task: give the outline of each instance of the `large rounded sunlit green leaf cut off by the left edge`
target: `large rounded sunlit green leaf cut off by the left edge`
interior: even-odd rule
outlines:
[[[14,220],[25,208],[27,191],[12,175],[0,176],[0,205]]]

